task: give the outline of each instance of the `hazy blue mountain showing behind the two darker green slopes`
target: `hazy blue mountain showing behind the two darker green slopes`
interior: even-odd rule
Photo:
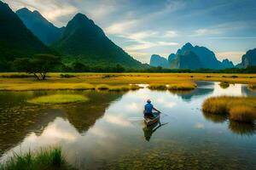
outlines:
[[[64,27],[58,28],[46,20],[37,10],[30,11],[27,8],[20,8],[16,14],[23,21],[25,26],[32,31],[44,44],[51,44],[61,37]]]

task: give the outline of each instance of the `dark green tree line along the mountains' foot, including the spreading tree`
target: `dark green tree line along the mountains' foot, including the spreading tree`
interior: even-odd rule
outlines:
[[[246,69],[230,68],[224,70],[210,69],[165,69],[160,66],[147,66],[145,69],[132,69],[119,64],[97,63],[84,64],[79,61],[65,63],[60,57],[51,54],[38,54],[31,58],[15,59],[8,63],[9,67],[0,65],[0,71],[19,71],[32,74],[38,80],[45,80],[48,72],[148,72],[148,73],[256,73],[256,66]]]

